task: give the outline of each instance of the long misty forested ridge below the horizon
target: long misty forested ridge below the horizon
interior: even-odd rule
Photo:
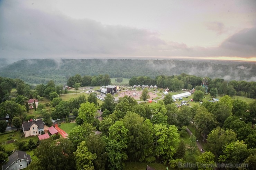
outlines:
[[[239,69],[237,66],[247,69]],[[199,77],[225,80],[256,81],[255,63],[194,60],[129,60],[129,59],[30,59],[0,68],[1,77],[19,78],[27,83],[56,83],[80,75],[109,74],[110,77],[177,75],[187,73]]]

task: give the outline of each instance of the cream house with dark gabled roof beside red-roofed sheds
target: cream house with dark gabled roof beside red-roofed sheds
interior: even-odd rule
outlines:
[[[44,123],[42,119],[32,120],[22,123],[22,130],[25,134],[25,138],[29,136],[41,135],[44,131]]]

